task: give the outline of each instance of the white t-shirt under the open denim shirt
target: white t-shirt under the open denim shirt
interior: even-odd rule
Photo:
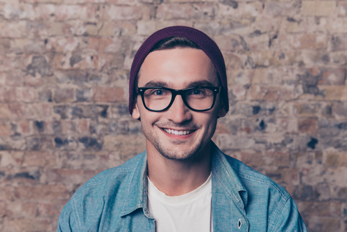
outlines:
[[[155,219],[156,232],[212,231],[211,175],[200,187],[177,197],[160,192],[149,182],[149,213]]]

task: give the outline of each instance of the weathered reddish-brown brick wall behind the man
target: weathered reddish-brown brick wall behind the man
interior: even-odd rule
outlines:
[[[76,189],[143,151],[128,76],[154,31],[226,58],[214,141],[285,186],[309,231],[347,231],[347,1],[0,0],[0,231],[55,231]]]

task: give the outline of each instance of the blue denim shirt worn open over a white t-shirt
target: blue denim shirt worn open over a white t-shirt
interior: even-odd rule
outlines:
[[[307,231],[280,185],[212,144],[213,231]],[[87,181],[58,219],[58,231],[155,231],[147,210],[146,152]]]

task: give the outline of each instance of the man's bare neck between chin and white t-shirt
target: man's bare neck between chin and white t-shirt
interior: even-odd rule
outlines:
[[[180,196],[192,192],[210,176],[210,150],[211,141],[191,159],[170,160],[156,149],[147,149],[149,179],[167,196]]]

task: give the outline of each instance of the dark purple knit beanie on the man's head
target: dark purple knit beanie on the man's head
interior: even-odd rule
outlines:
[[[196,43],[201,50],[203,50],[206,55],[211,59],[214,67],[217,69],[217,72],[221,78],[221,99],[224,101],[226,112],[229,110],[229,101],[228,101],[228,83],[226,81],[226,64],[224,63],[223,55],[221,54],[221,50],[217,46],[216,42],[214,42],[208,35],[203,33],[202,31],[198,31],[195,28],[187,27],[187,26],[170,26],[167,28],[163,28],[160,31],[153,33],[147,40],[141,45],[139,50],[137,51],[133,64],[130,69],[130,80],[129,80],[129,113],[133,114],[133,102],[135,100],[135,81],[137,73],[139,72],[139,68],[146,56],[148,56],[151,49],[160,42],[160,40],[164,40],[170,37],[181,37],[187,38],[188,40],[192,40],[192,42]]]

